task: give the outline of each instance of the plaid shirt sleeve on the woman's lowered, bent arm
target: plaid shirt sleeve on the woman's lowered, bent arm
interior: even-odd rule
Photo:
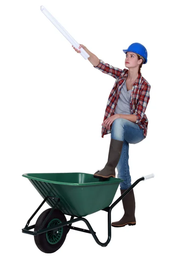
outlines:
[[[144,112],[146,110],[147,104],[150,99],[150,84],[144,83],[142,86],[142,90],[139,95],[139,101],[137,103],[136,111],[133,113],[134,115],[137,116],[136,123],[141,122]]]

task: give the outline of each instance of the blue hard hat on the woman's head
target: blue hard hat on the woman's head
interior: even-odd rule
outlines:
[[[143,64],[147,63],[147,49],[139,43],[130,44],[127,50],[123,50],[123,52],[135,52],[136,54],[142,56],[144,58]]]

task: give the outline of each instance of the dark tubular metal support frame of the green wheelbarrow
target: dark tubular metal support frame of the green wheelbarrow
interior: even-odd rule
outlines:
[[[55,197],[55,196],[49,196],[47,195],[45,197],[45,199],[42,201],[42,203],[40,204],[40,206],[37,208],[37,210],[33,213],[33,215],[29,218],[29,220],[27,221],[27,224],[26,226],[22,229],[22,232],[23,233],[26,233],[26,234],[30,234],[30,235],[33,235],[33,236],[37,236],[37,235],[40,235],[42,233],[46,233],[48,231],[51,231],[51,230],[56,230],[58,229],[59,227],[64,227],[64,226],[68,226],[68,231],[70,229],[72,230],[77,230],[77,231],[81,231],[81,232],[85,232],[85,233],[90,233],[92,234],[92,236],[94,237],[94,240],[96,241],[97,244],[99,244],[100,246],[102,247],[106,247],[109,242],[111,241],[111,210],[113,209],[113,207],[116,206],[116,204],[118,204],[122,198],[124,198],[140,181],[144,180],[144,177],[141,177],[139,178],[138,180],[136,180],[131,186],[130,188],[128,188],[113,204],[111,204],[111,206],[105,208],[105,209],[102,209],[103,211],[105,212],[108,212],[108,239],[105,243],[102,243],[99,241],[99,239],[97,238],[96,236],[96,232],[94,232],[93,228],[91,227],[91,224],[88,222],[88,220],[86,218],[82,218],[82,217],[77,217],[74,219],[75,216],[71,216],[71,219],[70,221],[65,221],[65,222],[62,222],[61,224],[57,224],[53,227],[48,227],[48,228],[44,228],[44,229],[40,229],[40,230],[37,230],[37,231],[30,231],[31,229],[33,229],[35,227],[35,224],[34,225],[31,225],[29,226],[29,223],[30,221],[32,220],[32,218],[34,218],[34,216],[37,214],[37,212],[40,210],[40,208],[42,207],[42,205],[45,203],[45,201],[48,199],[48,198],[51,198],[51,199],[54,199],[56,200],[56,203],[54,204],[54,207],[51,208],[51,211],[48,213],[47,217],[45,218],[45,220],[43,221],[42,223],[42,227],[43,225],[46,223],[46,221],[48,220],[48,218],[51,216],[52,212],[54,211],[55,207],[57,206],[57,204],[59,203],[59,198]],[[85,229],[82,229],[82,228],[78,228],[78,227],[72,227],[71,225],[77,221],[84,221],[85,224],[88,226],[88,229],[89,230],[85,230]]]

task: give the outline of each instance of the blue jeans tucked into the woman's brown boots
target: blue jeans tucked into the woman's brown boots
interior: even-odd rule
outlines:
[[[143,129],[127,119],[117,118],[111,127],[111,139],[123,141],[119,163],[116,166],[117,177],[124,180],[120,183],[120,189],[128,189],[131,186],[129,172],[129,143],[136,144],[144,140]]]

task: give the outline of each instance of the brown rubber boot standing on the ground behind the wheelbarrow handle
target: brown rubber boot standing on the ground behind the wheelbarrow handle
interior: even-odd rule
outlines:
[[[127,189],[120,189],[121,195]],[[125,225],[136,225],[135,219],[135,197],[133,189],[122,199],[125,214],[120,221],[112,222],[112,227],[125,227]]]

